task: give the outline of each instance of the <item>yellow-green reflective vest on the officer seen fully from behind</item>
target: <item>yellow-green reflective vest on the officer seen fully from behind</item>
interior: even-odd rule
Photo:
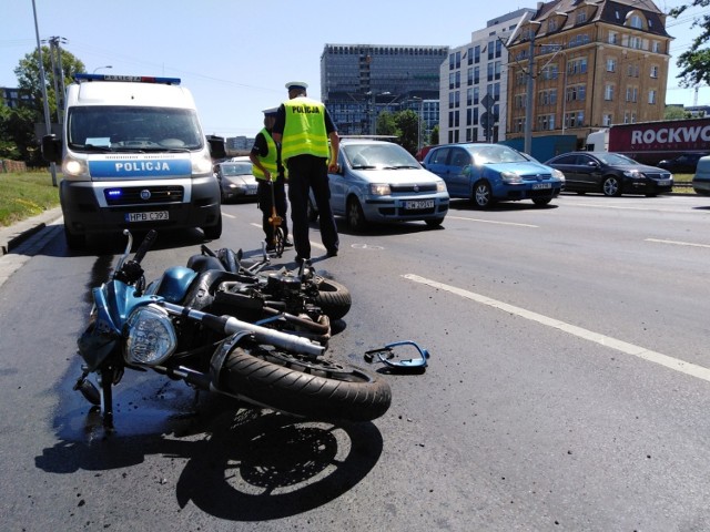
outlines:
[[[296,155],[327,158],[328,135],[325,131],[325,105],[307,98],[294,98],[284,103],[286,122],[281,142],[281,158]]]

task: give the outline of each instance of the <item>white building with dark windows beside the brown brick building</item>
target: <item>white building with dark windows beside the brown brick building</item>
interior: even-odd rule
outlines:
[[[508,51],[505,45],[524,16],[519,9],[489,20],[469,43],[449,51],[439,73],[440,142],[505,139]]]

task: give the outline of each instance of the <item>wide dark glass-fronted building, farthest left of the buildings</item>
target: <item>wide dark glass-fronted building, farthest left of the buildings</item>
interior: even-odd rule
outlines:
[[[377,116],[404,109],[423,114],[423,136],[438,121],[439,65],[448,47],[325,44],[321,99],[341,134],[375,133]]]

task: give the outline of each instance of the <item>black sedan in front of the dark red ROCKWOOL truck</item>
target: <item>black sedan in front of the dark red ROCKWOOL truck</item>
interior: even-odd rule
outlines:
[[[619,153],[569,152],[545,164],[565,174],[566,192],[656,196],[673,187],[673,174],[667,170],[637,163]]]

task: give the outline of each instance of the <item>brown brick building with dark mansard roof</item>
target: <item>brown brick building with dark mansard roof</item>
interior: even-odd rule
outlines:
[[[587,134],[662,120],[666,14],[650,0],[539,2],[509,43],[507,137]],[[531,94],[532,98],[529,98]]]

